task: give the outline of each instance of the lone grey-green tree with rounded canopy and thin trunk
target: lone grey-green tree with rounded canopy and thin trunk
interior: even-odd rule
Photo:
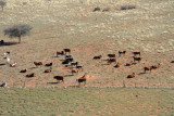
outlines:
[[[29,34],[30,29],[29,25],[18,24],[4,29],[4,35],[8,35],[10,38],[18,38],[18,43],[21,43],[21,37]]]

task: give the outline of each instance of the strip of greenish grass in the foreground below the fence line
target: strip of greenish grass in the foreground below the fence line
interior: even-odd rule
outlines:
[[[169,89],[0,89],[2,116],[172,116]]]

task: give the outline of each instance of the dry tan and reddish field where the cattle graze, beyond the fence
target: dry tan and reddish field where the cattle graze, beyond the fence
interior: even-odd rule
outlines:
[[[26,2],[26,4],[24,4]],[[120,10],[121,5],[136,5],[134,10]],[[96,7],[109,12],[92,12]],[[33,27],[29,36],[22,38],[22,43],[0,46],[0,54],[10,51],[11,63],[0,66],[0,81],[9,87],[63,87],[76,86],[76,78],[85,73],[92,76],[87,87],[126,86],[174,87],[174,0],[110,0],[70,2],[60,0],[7,0],[7,7],[0,12],[0,39],[17,42],[3,35],[3,29],[16,24]],[[61,64],[63,56],[55,57],[55,52],[65,48],[72,50],[75,61],[84,65],[84,70],[70,76],[71,70]],[[126,50],[119,57],[117,51]],[[142,61],[130,67],[125,63],[133,61],[133,51],[140,51]],[[107,65],[107,54],[115,53],[121,68]],[[102,55],[94,61],[95,55]],[[45,74],[48,67],[35,68],[34,62],[44,64],[53,62],[52,72]],[[5,63],[0,55],[0,63]],[[142,74],[144,66],[161,63],[152,73]],[[20,74],[23,68],[35,73],[36,77],[26,78]],[[136,77],[126,76],[136,73]],[[53,76],[65,76],[64,83],[55,83]]]

